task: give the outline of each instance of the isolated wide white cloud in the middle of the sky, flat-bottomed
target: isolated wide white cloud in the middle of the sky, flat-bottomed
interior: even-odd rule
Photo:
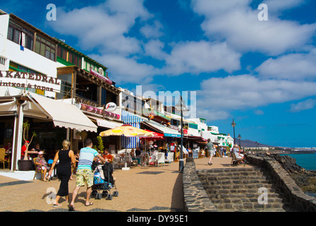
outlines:
[[[174,45],[166,57],[167,74],[202,73],[224,69],[234,71],[240,69],[241,54],[229,49],[226,42],[180,42]]]

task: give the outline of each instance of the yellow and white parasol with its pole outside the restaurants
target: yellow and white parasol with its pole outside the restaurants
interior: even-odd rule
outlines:
[[[143,129],[138,129],[134,126],[130,126],[128,124],[116,127],[114,129],[109,129],[106,131],[102,131],[99,133],[99,136],[128,136],[128,137],[152,137],[154,133],[150,131],[145,131]],[[128,169],[126,165],[126,156],[127,156],[127,148],[125,150],[125,168]]]

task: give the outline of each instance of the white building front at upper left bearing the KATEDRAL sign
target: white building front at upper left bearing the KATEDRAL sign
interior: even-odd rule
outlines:
[[[60,90],[56,81],[57,43],[12,13],[0,11],[0,86],[19,84],[32,93],[54,98],[56,91]],[[37,77],[32,74],[37,74]]]

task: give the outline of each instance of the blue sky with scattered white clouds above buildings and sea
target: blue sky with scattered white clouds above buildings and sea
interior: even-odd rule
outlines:
[[[57,7],[47,20],[47,4]],[[257,18],[266,4],[268,20]],[[1,3],[107,66],[118,86],[196,92],[196,116],[258,143],[316,147],[316,2],[98,0]]]

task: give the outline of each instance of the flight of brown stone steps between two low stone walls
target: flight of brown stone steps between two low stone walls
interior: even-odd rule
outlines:
[[[260,168],[202,169],[197,171],[207,196],[223,212],[286,212],[288,204],[272,178]],[[267,204],[260,204],[260,188],[267,189]]]

